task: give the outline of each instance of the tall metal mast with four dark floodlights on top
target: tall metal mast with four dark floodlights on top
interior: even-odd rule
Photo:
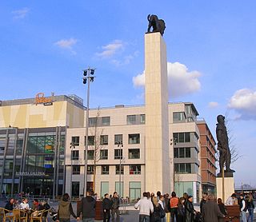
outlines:
[[[82,83],[87,83],[87,105],[86,105],[86,150],[85,150],[85,170],[84,170],[84,191],[83,196],[86,196],[87,190],[87,153],[88,153],[88,129],[89,129],[89,99],[90,99],[90,82],[94,81],[95,69],[83,70]]]

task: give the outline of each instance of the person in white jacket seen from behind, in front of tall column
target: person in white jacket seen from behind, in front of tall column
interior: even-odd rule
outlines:
[[[134,208],[139,208],[139,222],[150,222],[150,212],[154,212],[154,206],[151,200],[148,199],[147,192],[143,192],[142,199],[138,200]]]

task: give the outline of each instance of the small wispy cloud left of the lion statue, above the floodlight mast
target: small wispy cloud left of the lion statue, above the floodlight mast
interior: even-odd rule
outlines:
[[[114,56],[118,51],[124,49],[124,43],[121,40],[114,40],[106,46],[102,46],[102,52],[96,53],[97,57],[100,58],[109,58]]]

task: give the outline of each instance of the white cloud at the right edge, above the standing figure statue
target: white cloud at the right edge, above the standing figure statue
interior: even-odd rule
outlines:
[[[239,89],[230,98],[228,107],[240,114],[240,119],[256,119],[256,91]]]

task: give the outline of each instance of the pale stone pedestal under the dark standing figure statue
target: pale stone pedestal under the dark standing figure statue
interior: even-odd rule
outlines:
[[[222,177],[216,178],[216,189],[217,198],[222,198]],[[234,177],[224,177],[224,196],[225,199],[222,200],[226,203],[226,199],[234,193]]]

